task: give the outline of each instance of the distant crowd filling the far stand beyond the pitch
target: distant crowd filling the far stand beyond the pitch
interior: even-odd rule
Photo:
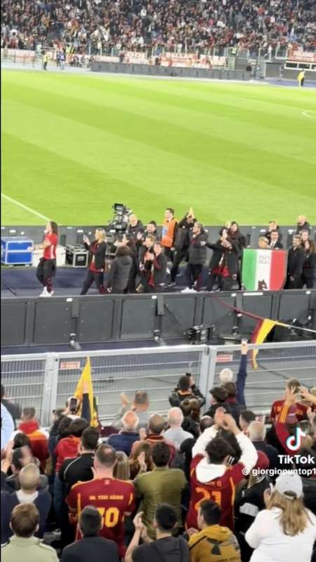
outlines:
[[[299,45],[315,50],[313,0],[3,0],[1,46],[204,52]]]

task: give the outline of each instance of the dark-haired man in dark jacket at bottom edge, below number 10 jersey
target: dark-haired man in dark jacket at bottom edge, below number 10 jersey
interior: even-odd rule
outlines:
[[[103,521],[98,509],[87,506],[81,511],[79,529],[83,538],[63,549],[61,562],[119,562],[117,544],[99,537]]]

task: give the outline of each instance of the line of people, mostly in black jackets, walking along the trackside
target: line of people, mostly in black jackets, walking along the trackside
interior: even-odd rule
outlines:
[[[305,216],[297,219],[296,233],[288,251],[285,289],[308,289],[314,286],[316,270],[315,242],[310,238],[311,228]],[[192,209],[177,221],[174,210],[166,209],[162,233],[157,235],[157,223],[146,226],[135,214],[129,217],[126,234],[116,242],[117,251],[109,262],[107,237],[103,228],[97,228],[95,240],[84,236],[88,250],[88,270],[81,295],[88,292],[93,282],[101,294],[151,293],[172,290],[176,287],[180,263],[186,263],[183,292],[202,289],[202,273],[207,251],[213,251],[209,261],[206,291],[242,289],[242,251],[247,247],[246,237],[238,223],[232,221],[220,228],[218,240],[211,242],[202,223]],[[44,285],[41,296],[52,296],[52,277],[55,273],[55,253],[58,244],[56,223],[46,225],[44,256],[39,263],[37,277]],[[258,248],[283,249],[282,233],[276,221],[270,221],[267,230],[258,239]],[[105,279],[106,274],[106,279]]]

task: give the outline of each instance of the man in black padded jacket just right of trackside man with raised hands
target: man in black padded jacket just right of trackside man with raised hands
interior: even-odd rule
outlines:
[[[207,235],[201,223],[195,223],[189,233],[189,261],[185,270],[187,287],[183,293],[199,291],[202,283],[202,270],[206,260]],[[194,288],[193,288],[194,287]]]

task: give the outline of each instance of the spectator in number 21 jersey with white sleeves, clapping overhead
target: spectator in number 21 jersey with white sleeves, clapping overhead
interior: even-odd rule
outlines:
[[[220,410],[220,412],[218,412]],[[242,456],[237,464],[230,466],[230,457],[234,451],[223,437],[214,437],[206,445],[206,457],[196,455],[191,463],[191,499],[185,526],[197,528],[197,513],[204,499],[213,499],[221,509],[220,525],[234,528],[235,487],[245,474],[254,468],[258,453],[251,440],[237,427],[235,419],[218,409],[216,422],[235,435]]]

